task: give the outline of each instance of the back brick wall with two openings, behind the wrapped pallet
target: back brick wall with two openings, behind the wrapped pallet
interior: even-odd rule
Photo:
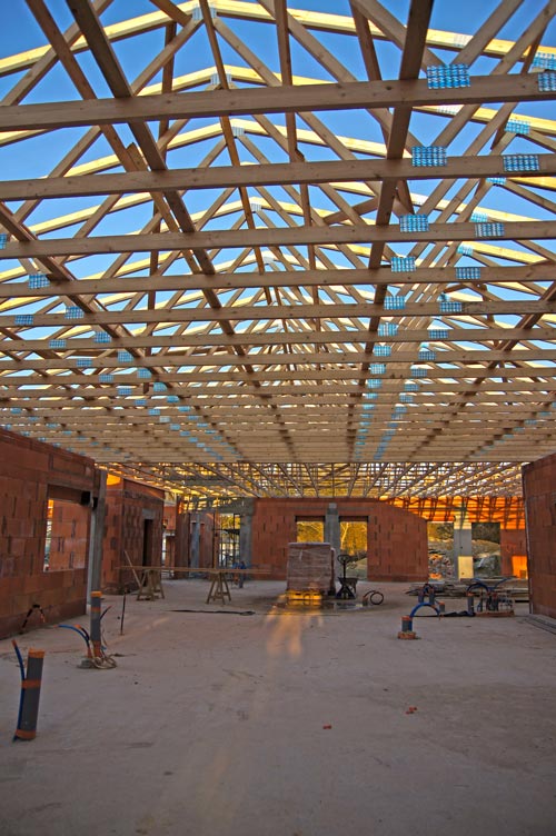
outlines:
[[[288,543],[297,536],[296,518],[325,518],[337,505],[340,520],[367,521],[367,567],[373,580],[426,580],[427,524],[420,517],[373,499],[256,499],[252,517],[252,564],[270,577],[286,577]]]

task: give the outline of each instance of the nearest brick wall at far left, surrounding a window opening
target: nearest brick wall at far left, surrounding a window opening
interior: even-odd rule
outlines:
[[[88,554],[90,509],[80,502],[95,489],[92,459],[0,429],[0,638],[18,633],[33,605],[48,624],[86,611],[86,565],[44,571],[44,545],[48,500],[66,499]],[[38,613],[29,627],[39,626]]]

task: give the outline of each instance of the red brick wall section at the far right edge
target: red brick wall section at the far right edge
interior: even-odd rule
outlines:
[[[523,469],[533,613],[556,618],[556,454]]]

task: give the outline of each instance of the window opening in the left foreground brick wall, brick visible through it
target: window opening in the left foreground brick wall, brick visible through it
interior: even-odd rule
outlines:
[[[80,502],[48,500],[43,571],[82,569],[87,565],[89,516],[90,509]]]

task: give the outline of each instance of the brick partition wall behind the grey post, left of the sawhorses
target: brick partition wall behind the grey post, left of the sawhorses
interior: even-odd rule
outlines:
[[[165,492],[149,485],[109,476],[102,544],[102,589],[122,593],[137,584],[121,569],[125,551],[133,566],[159,566],[162,559]]]

